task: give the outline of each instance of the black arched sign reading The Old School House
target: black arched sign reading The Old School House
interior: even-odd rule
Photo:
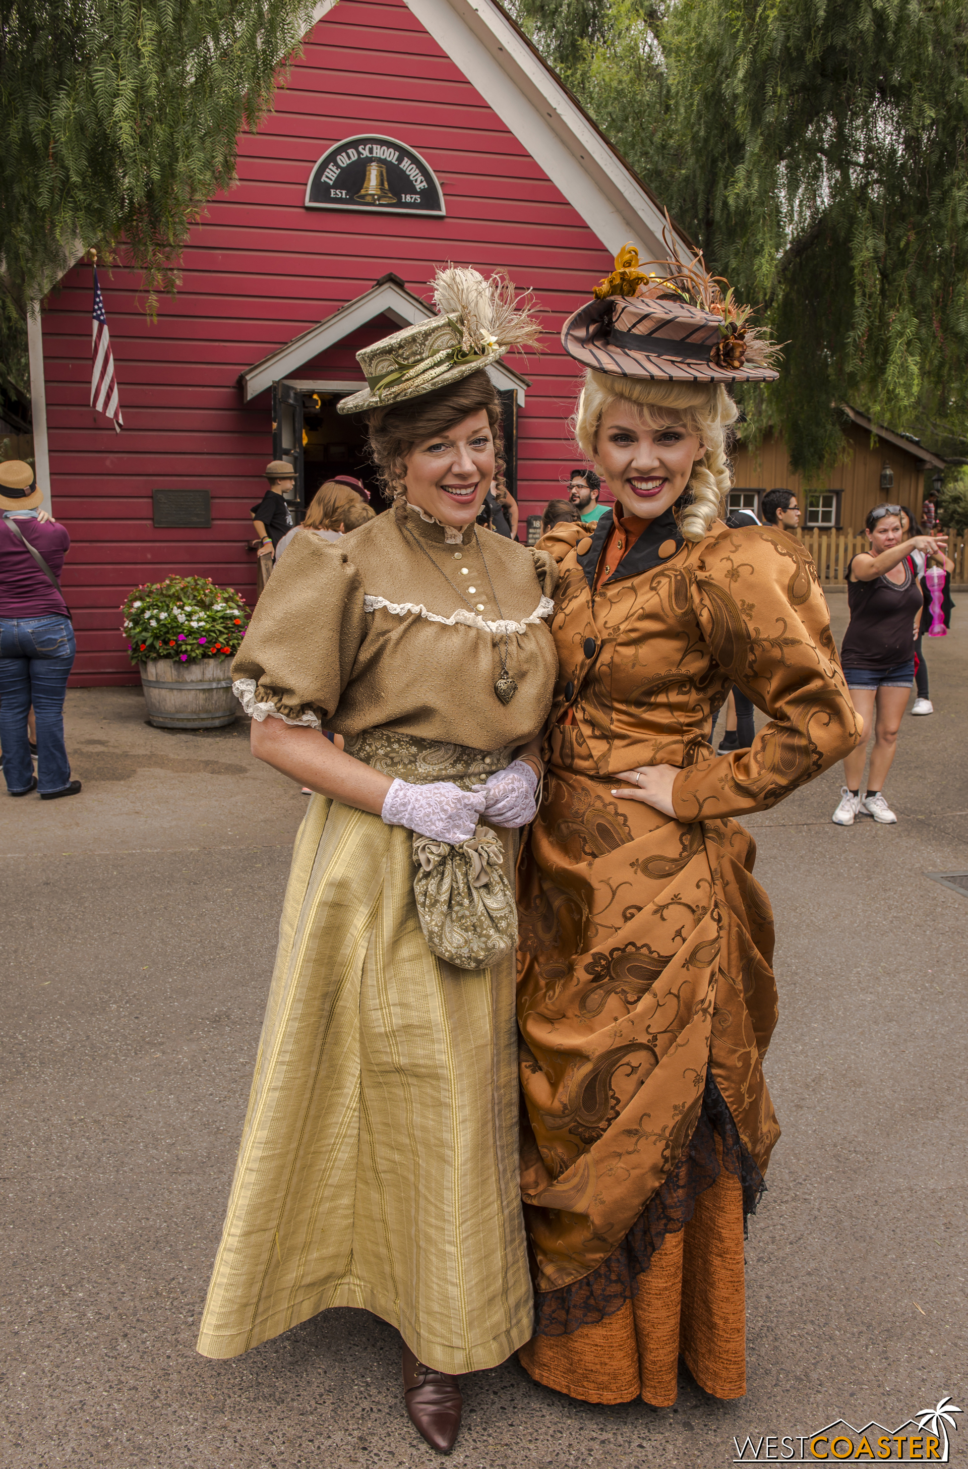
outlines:
[[[336,142],[310,173],[307,209],[382,210],[444,216],[433,169],[397,138],[364,134]]]

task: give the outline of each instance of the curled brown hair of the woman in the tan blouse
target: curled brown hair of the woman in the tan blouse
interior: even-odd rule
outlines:
[[[407,466],[404,458],[414,444],[435,433],[447,433],[455,423],[480,408],[488,414],[494,439],[494,474],[504,489],[504,435],[501,433],[501,400],[488,373],[477,372],[425,392],[419,398],[372,408],[367,414],[370,455],[380,476],[386,499],[394,501],[397,519],[407,514]]]

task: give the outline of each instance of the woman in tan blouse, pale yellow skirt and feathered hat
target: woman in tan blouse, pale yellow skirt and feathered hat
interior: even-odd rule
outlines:
[[[254,754],[317,795],[198,1350],[372,1310],[447,1453],[458,1375],[532,1334],[513,864],[557,658],[551,558],[476,529],[502,461],[486,369],[538,323],[499,275],[448,267],[435,300],[357,354],[366,388],[339,404],[366,414],[394,510],[294,536],[232,670]]]

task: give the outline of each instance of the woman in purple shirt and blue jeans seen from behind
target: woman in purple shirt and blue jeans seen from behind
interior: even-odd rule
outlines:
[[[73,664],[73,627],[56,580],[71,536],[41,521],[41,492],[22,460],[0,464],[0,745],[10,796],[40,787],[41,801],[73,796],[63,742],[63,701]],[[34,548],[40,561],[31,554]],[[47,564],[51,576],[44,570]],[[37,717],[37,776],[26,715]]]

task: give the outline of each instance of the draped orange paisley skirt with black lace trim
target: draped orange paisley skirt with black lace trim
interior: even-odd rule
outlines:
[[[773,923],[732,821],[555,767],[519,865],[521,1196],[546,1387],[746,1391],[745,1216],[779,1136]]]

